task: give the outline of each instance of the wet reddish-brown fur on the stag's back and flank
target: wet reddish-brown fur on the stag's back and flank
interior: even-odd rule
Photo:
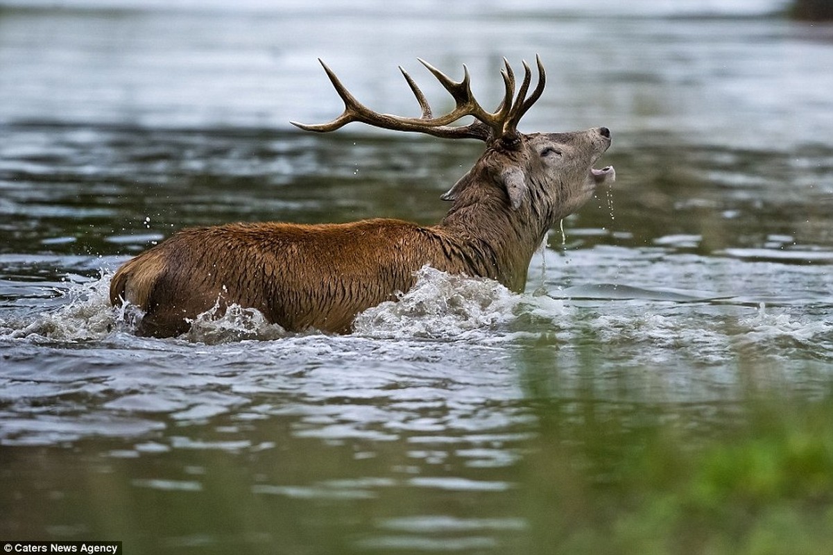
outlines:
[[[496,274],[471,245],[397,220],[236,223],[183,230],[133,258],[112,279],[111,301],[126,299],[147,312],[143,335],[185,332],[184,318],[218,299],[221,307],[257,308],[290,330],[345,333],[357,313],[411,288],[413,273],[425,264]]]

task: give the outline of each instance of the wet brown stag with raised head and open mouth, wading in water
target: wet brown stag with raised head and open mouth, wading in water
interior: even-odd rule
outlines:
[[[611,145],[608,128],[571,133],[520,133],[521,117],[541,97],[546,73],[536,55],[516,91],[515,74],[503,58],[503,98],[493,112],[471,92],[463,65],[455,81],[417,58],[451,94],[455,106],[435,116],[414,79],[399,67],[421,108],[421,116],[374,112],[359,102],[321,59],[344,102],[331,122],[291,122],[328,133],[350,122],[436,138],[476,139],[485,151],[441,199],[451,203],[433,226],[392,218],[352,223],[227,223],[185,228],[124,263],[112,276],[110,302],[135,305],[143,315],[140,336],[175,337],[194,318],[217,308],[260,311],[287,332],[351,333],[358,313],[396,301],[428,265],[442,272],[487,278],[512,292],[526,287],[531,258],[546,233],[611,183],[612,166],[594,164]],[[527,96],[528,95],[528,96]],[[471,122],[459,122],[471,117]],[[455,125],[456,123],[456,125]]]

